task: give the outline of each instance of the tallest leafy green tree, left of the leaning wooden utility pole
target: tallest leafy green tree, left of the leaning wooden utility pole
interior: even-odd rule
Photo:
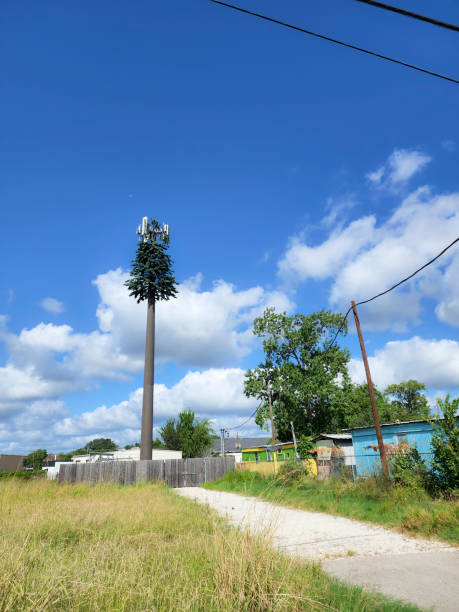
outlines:
[[[346,323],[329,310],[287,316],[267,308],[255,319],[253,333],[263,339],[266,357],[260,367],[272,368],[273,412],[280,440],[291,439],[290,421],[298,436],[345,426],[342,384],[337,381],[347,376],[349,353],[336,343],[331,346],[337,332],[345,335]],[[260,378],[259,369],[246,374],[248,396],[259,397],[253,382]],[[264,426],[268,418],[262,401],[256,422]]]

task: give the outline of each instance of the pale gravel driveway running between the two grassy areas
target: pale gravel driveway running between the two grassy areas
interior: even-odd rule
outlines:
[[[208,504],[234,525],[268,532],[280,551],[322,561],[342,580],[424,608],[459,609],[459,553],[447,544],[235,493],[198,487],[176,491]]]

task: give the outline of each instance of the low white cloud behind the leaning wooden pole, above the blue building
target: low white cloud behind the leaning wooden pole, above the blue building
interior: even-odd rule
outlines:
[[[372,379],[381,389],[411,378],[431,389],[459,387],[459,342],[454,340],[414,336],[388,342],[368,360]],[[349,372],[355,382],[366,380],[360,359],[351,359]]]

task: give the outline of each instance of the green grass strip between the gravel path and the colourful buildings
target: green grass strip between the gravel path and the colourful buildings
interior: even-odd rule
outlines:
[[[459,543],[459,499],[432,499],[422,489],[391,487],[378,479],[356,483],[305,478],[285,483],[256,473],[232,472],[207,487],[260,496],[269,501],[376,523],[410,535]]]

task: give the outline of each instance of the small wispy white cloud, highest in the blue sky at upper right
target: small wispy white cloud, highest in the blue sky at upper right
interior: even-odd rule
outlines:
[[[398,191],[430,161],[432,158],[421,151],[395,149],[383,166],[367,174],[367,179],[375,187]]]

